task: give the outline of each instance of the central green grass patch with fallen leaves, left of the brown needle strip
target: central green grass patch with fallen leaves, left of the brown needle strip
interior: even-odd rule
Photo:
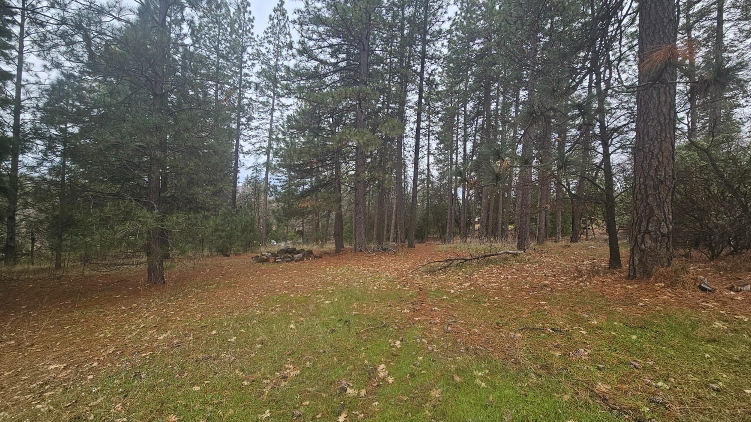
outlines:
[[[358,415],[375,421],[607,420],[595,403],[562,400],[572,391],[554,379],[529,379],[490,356],[439,351],[395,306],[411,295],[364,280],[195,322],[173,333],[182,346],[137,357],[56,394],[45,405],[46,417],[288,421],[297,411],[301,420],[324,421],[343,412],[348,421]]]

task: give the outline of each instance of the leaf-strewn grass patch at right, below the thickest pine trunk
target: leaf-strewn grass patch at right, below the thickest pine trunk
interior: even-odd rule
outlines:
[[[433,289],[427,296],[444,293]],[[742,317],[649,309],[635,315],[593,292],[548,295],[546,307],[531,309],[477,293],[451,295],[460,304],[457,318],[469,328],[482,323],[519,336],[517,367],[568,386],[580,399],[607,397],[608,407],[644,421],[751,420],[745,416],[751,326]],[[515,331],[520,327],[562,331]]]

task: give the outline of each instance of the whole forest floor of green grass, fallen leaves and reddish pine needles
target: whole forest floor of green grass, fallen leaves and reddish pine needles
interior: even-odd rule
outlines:
[[[217,257],[156,287],[4,274],[0,421],[751,421],[751,293],[725,289],[751,256],[647,281],[602,242],[416,269],[467,248]]]

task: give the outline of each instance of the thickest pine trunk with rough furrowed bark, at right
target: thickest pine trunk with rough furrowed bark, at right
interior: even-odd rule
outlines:
[[[634,199],[629,278],[650,277],[673,258],[676,48],[672,0],[639,1]],[[668,54],[665,54],[668,52]]]

